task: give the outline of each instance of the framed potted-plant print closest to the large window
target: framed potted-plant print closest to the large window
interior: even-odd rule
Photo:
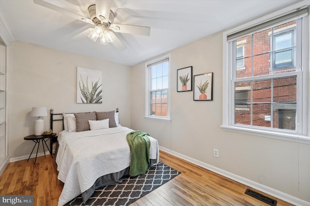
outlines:
[[[213,72],[194,75],[194,101],[213,100]]]

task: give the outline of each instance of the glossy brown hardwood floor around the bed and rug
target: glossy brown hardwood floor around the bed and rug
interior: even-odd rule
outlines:
[[[35,165],[33,162],[34,158],[29,162],[23,160],[9,163],[0,177],[0,194],[33,195],[34,206],[57,206],[63,184],[57,179],[57,165],[54,159],[47,155],[38,157]],[[268,206],[246,195],[244,192],[248,186],[166,152],[160,151],[160,162],[182,174],[140,198],[131,206]],[[278,206],[291,206],[282,200],[276,200]]]

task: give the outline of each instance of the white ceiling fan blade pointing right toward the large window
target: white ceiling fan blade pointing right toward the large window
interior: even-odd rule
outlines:
[[[126,24],[111,24],[109,29],[112,29],[115,32],[138,34],[144,36],[150,36],[151,33],[150,27],[126,25]]]

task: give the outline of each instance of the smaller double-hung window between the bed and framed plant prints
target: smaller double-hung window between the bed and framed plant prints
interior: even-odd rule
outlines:
[[[169,56],[146,64],[146,117],[169,119]]]

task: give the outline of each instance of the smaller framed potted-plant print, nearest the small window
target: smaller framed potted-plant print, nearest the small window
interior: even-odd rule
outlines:
[[[177,70],[177,91],[192,91],[193,67],[185,67]]]

